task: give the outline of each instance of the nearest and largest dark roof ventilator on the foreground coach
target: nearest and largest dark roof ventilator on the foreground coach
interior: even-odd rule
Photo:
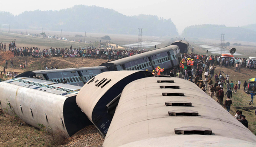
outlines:
[[[184,134],[184,135],[189,135],[189,134],[198,134],[198,135],[212,135],[212,130],[211,128],[207,127],[180,127],[180,128],[175,128],[175,134]]]

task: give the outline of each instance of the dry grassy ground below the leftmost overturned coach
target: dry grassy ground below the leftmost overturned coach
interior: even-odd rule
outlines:
[[[0,110],[1,147],[51,147],[64,143],[63,135],[49,134]]]

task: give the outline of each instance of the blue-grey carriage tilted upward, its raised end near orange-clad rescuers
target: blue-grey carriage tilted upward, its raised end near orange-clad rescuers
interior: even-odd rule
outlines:
[[[119,60],[103,63],[109,71],[147,70],[153,71],[157,66],[166,71],[179,64],[180,49],[176,45],[166,46],[142,54],[133,55]]]

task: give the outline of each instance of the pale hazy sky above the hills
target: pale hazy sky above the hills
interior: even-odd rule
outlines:
[[[195,24],[243,26],[256,23],[256,0],[1,0],[0,11],[14,15],[33,10],[60,10],[74,5],[101,6],[125,15],[171,18],[181,33]]]

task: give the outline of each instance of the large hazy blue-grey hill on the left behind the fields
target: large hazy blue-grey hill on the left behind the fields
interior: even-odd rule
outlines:
[[[71,32],[94,32],[111,34],[137,35],[138,28],[143,28],[143,35],[174,36],[178,35],[171,19],[140,14],[126,16],[113,9],[98,6],[76,5],[59,11],[26,11],[14,16],[9,12],[0,12],[2,28],[37,29]],[[26,22],[26,23],[25,23]]]

